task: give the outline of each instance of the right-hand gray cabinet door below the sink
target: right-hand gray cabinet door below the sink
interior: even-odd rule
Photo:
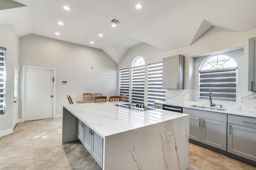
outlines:
[[[226,135],[226,122],[202,118],[202,143],[226,150]]]

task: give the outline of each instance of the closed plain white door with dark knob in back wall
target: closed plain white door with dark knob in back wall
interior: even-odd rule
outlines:
[[[53,69],[25,69],[24,121],[53,117],[53,78]]]

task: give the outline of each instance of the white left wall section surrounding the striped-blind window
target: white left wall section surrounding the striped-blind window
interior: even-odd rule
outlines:
[[[0,116],[0,137],[13,132],[14,61],[19,62],[19,37],[13,25],[0,25],[0,46],[6,48],[6,115]]]

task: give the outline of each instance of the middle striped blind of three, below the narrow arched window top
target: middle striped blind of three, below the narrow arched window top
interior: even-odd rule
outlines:
[[[132,103],[144,104],[145,66],[132,68]]]

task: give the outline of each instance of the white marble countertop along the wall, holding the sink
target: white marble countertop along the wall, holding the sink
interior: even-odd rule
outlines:
[[[220,108],[220,109],[226,109],[224,111],[221,110],[214,110],[214,109],[207,109],[207,108],[199,108],[199,107],[191,107],[192,105],[196,106],[206,106],[202,105],[200,102],[155,102],[158,104],[166,104],[170,106],[180,106],[180,107],[186,107],[186,108],[191,108],[191,109],[198,109],[198,110],[206,110],[206,111],[213,111],[213,112],[218,112],[218,113],[226,113],[230,115],[239,115],[239,116],[246,116],[246,117],[254,117],[256,118],[256,111],[246,111],[246,110],[240,110],[240,109],[230,109],[230,108]],[[206,106],[208,107],[208,106]],[[213,108],[219,108],[218,106],[213,107]]]

